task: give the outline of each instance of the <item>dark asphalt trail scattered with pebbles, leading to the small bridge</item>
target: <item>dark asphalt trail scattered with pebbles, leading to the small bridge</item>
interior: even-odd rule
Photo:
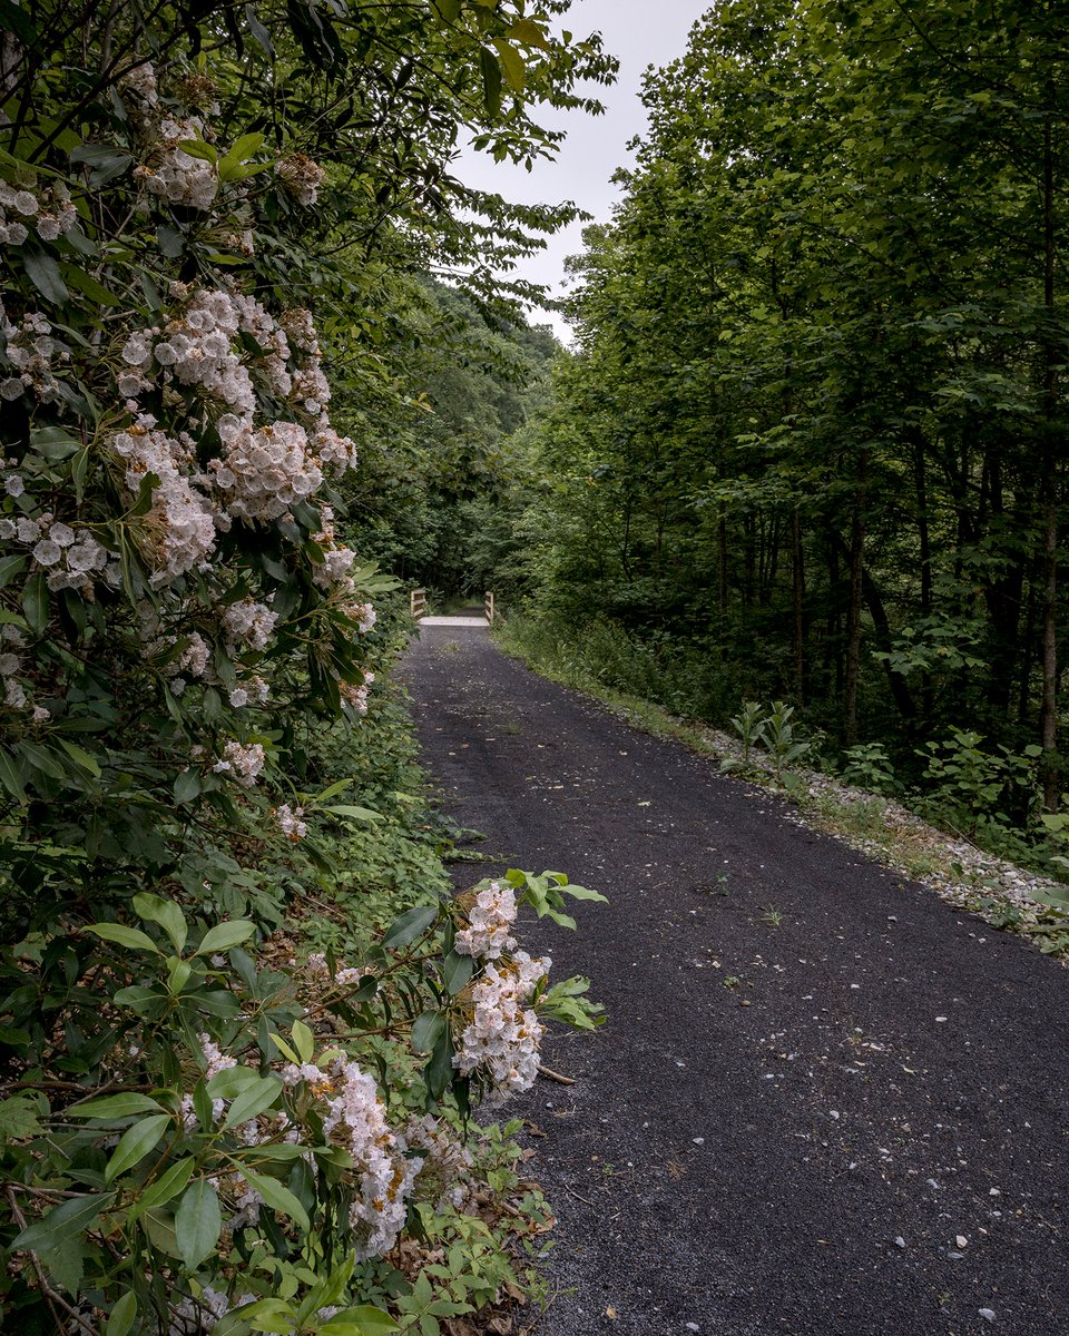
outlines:
[[[518,1108],[559,1217],[541,1336],[1069,1333],[1069,971],[485,631],[428,628],[406,675],[494,859],[462,880],[612,902],[524,941],[611,1014]]]

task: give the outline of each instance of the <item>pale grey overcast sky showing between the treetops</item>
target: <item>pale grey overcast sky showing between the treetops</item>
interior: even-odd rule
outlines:
[[[485,154],[468,154],[456,174],[470,186],[497,191],[516,203],[573,199],[596,222],[607,222],[617,195],[609,178],[631,160],[628,140],[645,131],[640,102],[643,72],[651,64],[664,65],[683,55],[691,25],[708,8],[710,0],[572,0],[561,25],[576,37],[601,32],[605,49],[620,61],[619,79],[611,88],[592,84],[588,90],[605,104],[605,115],[536,114],[548,127],[568,131],[555,163],[537,163],[528,172],[510,163],[496,163]],[[575,223],[551,236],[548,248],[524,266],[521,277],[545,283],[560,295],[564,258],[583,250],[584,226]],[[561,317],[533,311],[530,319],[552,323],[560,338],[568,338]]]

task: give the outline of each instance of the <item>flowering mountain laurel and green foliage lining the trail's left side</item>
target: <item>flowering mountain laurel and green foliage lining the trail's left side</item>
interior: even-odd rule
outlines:
[[[0,4],[0,1308],[27,1333],[436,1336],[537,1296],[551,1216],[493,1110],[547,1022],[599,1014],[513,922],[600,896],[453,895],[374,558],[429,457],[462,500],[450,365],[512,428],[544,357],[486,274],[575,210],[450,167],[552,154],[540,100],[595,108],[612,61],[561,8]]]

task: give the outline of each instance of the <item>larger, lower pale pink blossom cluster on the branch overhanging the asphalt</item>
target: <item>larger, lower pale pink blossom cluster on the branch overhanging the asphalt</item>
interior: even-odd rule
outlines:
[[[489,1079],[490,1104],[534,1083],[543,1025],[528,1003],[551,963],[548,957],[533,961],[517,951],[497,966],[486,965],[472,986],[473,1014],[453,1065],[465,1075],[477,1071]]]

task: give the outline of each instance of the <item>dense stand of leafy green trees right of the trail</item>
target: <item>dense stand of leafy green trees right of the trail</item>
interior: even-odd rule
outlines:
[[[530,644],[1057,807],[1068,60],[1058,5],[738,0],[649,72],[524,433]]]

